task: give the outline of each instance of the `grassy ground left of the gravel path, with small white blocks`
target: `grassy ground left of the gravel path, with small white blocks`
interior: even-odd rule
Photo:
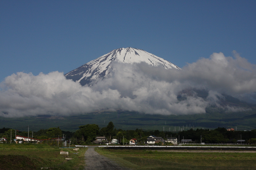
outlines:
[[[0,144],[0,169],[30,170],[48,167],[54,170],[80,170],[84,168],[86,150],[87,148],[80,148],[73,151],[73,148],[58,148],[47,144]],[[60,151],[69,154],[61,155]]]

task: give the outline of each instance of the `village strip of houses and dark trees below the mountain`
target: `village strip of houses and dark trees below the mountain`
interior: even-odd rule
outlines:
[[[29,128],[29,127],[28,127]],[[69,144],[98,145],[179,145],[179,144],[255,144],[256,129],[236,131],[234,128],[196,129],[177,132],[145,131],[142,129],[115,129],[114,124],[99,128],[96,124],[79,126],[75,132],[62,131],[59,127],[37,132],[17,129],[0,129],[1,143],[46,143],[55,146]]]

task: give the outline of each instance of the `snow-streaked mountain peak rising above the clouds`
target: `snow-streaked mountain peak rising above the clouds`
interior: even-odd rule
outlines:
[[[180,68],[167,60],[137,48],[118,48],[95,60],[92,60],[65,74],[67,79],[79,82],[82,86],[110,73],[112,62],[135,64],[145,62],[151,66],[163,66],[165,69]]]

